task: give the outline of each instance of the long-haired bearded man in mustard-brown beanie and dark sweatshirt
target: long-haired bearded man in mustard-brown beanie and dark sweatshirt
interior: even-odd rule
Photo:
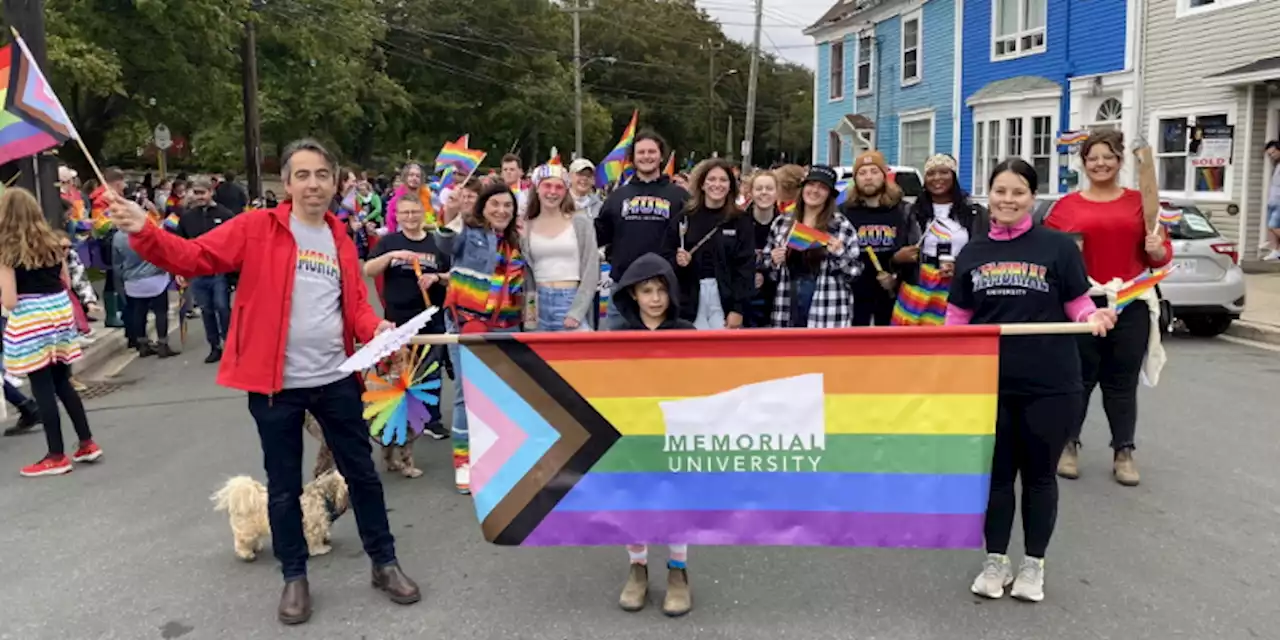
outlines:
[[[897,300],[893,255],[906,241],[906,209],[902,189],[888,175],[879,151],[863,152],[854,163],[852,191],[841,207],[858,229],[863,253],[863,271],[854,282],[854,326],[888,325]]]

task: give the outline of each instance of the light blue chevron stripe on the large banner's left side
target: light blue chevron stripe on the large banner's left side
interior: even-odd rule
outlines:
[[[460,380],[465,376],[468,384],[484,393],[490,402],[503,411],[513,425],[525,431],[525,442],[511,454],[511,458],[494,474],[484,488],[474,495],[476,516],[484,522],[498,502],[511,492],[516,483],[559,440],[559,431],[552,429],[540,413],[532,410],[516,392],[511,390],[489,366],[462,347]],[[454,393],[462,393],[457,389]],[[468,419],[471,416],[467,416]]]

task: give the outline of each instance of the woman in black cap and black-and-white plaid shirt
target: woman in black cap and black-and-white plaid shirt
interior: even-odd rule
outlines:
[[[808,248],[795,248],[788,241],[796,224],[827,237],[818,238]],[[806,243],[799,236],[796,239],[795,244]],[[764,257],[768,276],[778,287],[773,297],[773,326],[852,326],[851,285],[863,265],[858,257],[858,230],[836,210],[836,172],[832,168],[813,165],[809,169],[796,210],[773,220]]]

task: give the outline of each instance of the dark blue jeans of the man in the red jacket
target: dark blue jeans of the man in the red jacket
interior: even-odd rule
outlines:
[[[307,412],[320,424],[338,472],[347,480],[365,553],[375,567],[396,562],[396,539],[387,522],[387,500],[374,468],[360,394],[355,376],[312,389],[284,389],[271,397],[248,394],[248,412],[262,440],[271,548],[285,581],[307,575],[307,541],[302,536],[302,506],[298,503],[302,497],[302,419]]]

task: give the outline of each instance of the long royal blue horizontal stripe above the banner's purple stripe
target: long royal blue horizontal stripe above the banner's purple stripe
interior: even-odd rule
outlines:
[[[986,474],[588,474],[556,511],[982,513],[989,480]]]

